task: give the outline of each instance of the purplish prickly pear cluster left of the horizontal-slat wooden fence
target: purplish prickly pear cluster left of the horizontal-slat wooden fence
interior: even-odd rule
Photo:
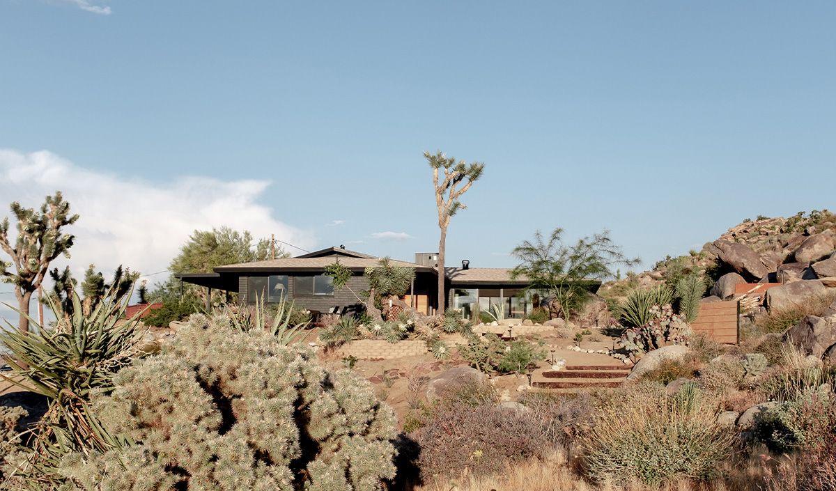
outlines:
[[[627,351],[643,354],[672,344],[688,344],[691,326],[685,316],[674,314],[670,304],[651,306],[653,319],[644,326],[628,329],[621,336],[620,344]]]

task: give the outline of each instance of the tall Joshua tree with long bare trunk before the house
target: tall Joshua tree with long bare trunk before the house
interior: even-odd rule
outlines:
[[[444,250],[447,240],[447,225],[450,225],[450,218],[456,215],[456,211],[467,208],[459,201],[459,196],[466,193],[473,184],[473,181],[482,176],[482,169],[485,165],[473,162],[466,165],[464,160],[456,163],[453,157],[447,157],[439,150],[435,155],[424,152],[424,157],[432,167],[432,181],[436,185],[436,207],[438,208],[438,227],[441,229],[441,239],[438,241],[438,312],[444,312]],[[444,179],[439,180],[438,170],[444,170]],[[462,180],[467,183],[461,190],[456,190],[456,185]]]

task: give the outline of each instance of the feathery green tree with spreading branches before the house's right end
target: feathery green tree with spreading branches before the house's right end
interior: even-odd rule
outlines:
[[[619,245],[604,230],[591,237],[579,239],[572,245],[563,243],[563,229],[554,229],[545,240],[538,230],[534,240],[523,240],[511,255],[520,262],[511,271],[513,278],[526,278],[528,290],[548,290],[560,302],[563,317],[583,306],[590,280],[614,277],[616,265],[634,266],[640,259],[628,259]]]

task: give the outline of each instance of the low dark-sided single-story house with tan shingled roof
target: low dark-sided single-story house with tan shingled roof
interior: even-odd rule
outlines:
[[[437,307],[437,259],[437,252],[425,252],[415,254],[415,262],[390,260],[395,266],[415,269],[415,281],[404,301],[427,314],[432,314]],[[325,266],[335,261],[354,274],[341,290],[335,289],[330,276],[324,275]],[[218,266],[213,273],[178,274],[175,277],[209,289],[237,292],[239,301],[244,304],[254,304],[257,296],[263,296],[267,302],[285,299],[310,311],[344,313],[358,308],[359,301],[354,293],[359,295],[369,287],[363,273],[369,266],[379,266],[379,261],[377,256],[344,247],[329,247],[302,256]],[[475,303],[482,311],[487,311],[491,304],[502,305],[506,316],[520,318],[528,314],[537,301],[534,296],[538,292],[523,291],[528,281],[524,278],[512,280],[508,268],[472,268],[468,261],[461,261],[461,267],[444,269],[446,303],[461,309],[467,318]],[[596,291],[600,282],[590,281],[590,286]]]

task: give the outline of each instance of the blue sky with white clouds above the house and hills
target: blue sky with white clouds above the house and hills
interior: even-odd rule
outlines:
[[[77,271],[156,272],[219,225],[410,259],[437,248],[441,149],[485,163],[448,264],[514,266],[559,226],[651,266],[833,208],[834,24],[831,2],[0,0],[0,204],[64,190]]]

